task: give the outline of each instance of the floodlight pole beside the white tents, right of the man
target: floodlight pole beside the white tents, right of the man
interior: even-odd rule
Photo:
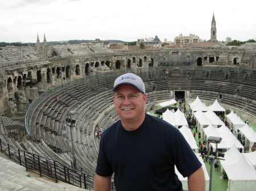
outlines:
[[[212,165],[213,165],[213,160],[214,159],[219,159],[219,160],[225,160],[224,158],[224,153],[217,153],[218,149],[218,143],[220,143],[222,140],[221,137],[213,137],[209,136],[208,137],[208,151],[201,151],[200,156],[204,156],[204,154],[207,154],[207,156],[204,156],[205,158],[208,158],[210,160],[210,182],[209,182],[209,191],[212,190]],[[216,144],[216,150],[215,152],[209,151],[209,143],[215,143]],[[220,158],[222,157],[222,158]]]

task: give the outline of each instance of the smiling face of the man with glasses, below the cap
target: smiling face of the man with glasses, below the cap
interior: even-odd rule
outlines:
[[[143,94],[133,85],[123,84],[115,89],[114,95],[115,111],[117,111],[121,121],[133,122],[144,120],[144,104],[147,101],[146,94]]]

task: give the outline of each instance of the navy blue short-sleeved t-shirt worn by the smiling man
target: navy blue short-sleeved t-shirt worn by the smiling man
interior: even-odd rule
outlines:
[[[202,164],[180,131],[160,118],[146,114],[133,131],[117,121],[102,133],[96,173],[114,172],[117,190],[182,190],[174,165],[187,177]]]

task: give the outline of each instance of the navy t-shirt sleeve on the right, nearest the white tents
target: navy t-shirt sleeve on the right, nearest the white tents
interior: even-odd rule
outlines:
[[[201,162],[179,130],[174,134],[174,161],[183,177],[191,175],[201,167]]]

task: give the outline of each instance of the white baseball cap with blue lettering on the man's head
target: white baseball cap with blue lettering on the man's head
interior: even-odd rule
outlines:
[[[131,84],[138,88],[139,91],[143,92],[145,94],[145,85],[141,79],[141,77],[138,77],[138,75],[127,73],[119,76],[117,79],[115,79],[114,82],[114,88],[113,92],[115,91],[115,88],[122,84]]]

